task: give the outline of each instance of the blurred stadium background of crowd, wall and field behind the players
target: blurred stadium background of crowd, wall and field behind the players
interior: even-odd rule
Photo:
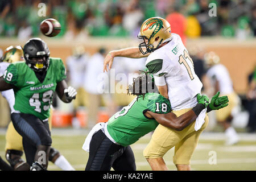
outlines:
[[[42,8],[40,3],[46,5],[46,16],[38,14]],[[216,16],[209,15],[210,3],[217,7]],[[210,113],[210,123],[192,158],[192,169],[256,170],[256,134],[248,127],[250,115],[255,115],[255,109],[251,109],[251,106],[255,107],[255,98],[248,100],[246,97],[256,66],[255,1],[1,0],[0,55],[11,45],[23,46],[29,38],[40,37],[48,44],[51,56],[61,57],[64,61],[68,71],[67,81],[79,90],[83,99],[79,100],[80,103],[63,104],[54,97],[53,147],[60,150],[76,169],[82,170],[88,154],[81,147],[89,129],[99,121],[108,121],[112,114],[133,99],[126,93],[97,92],[97,86],[101,84],[97,77],[102,74],[104,56],[113,49],[138,46],[140,26],[152,16],[170,21],[172,31],[181,36],[194,61],[203,59],[204,53],[214,51],[220,57],[220,63],[228,69],[234,90],[240,98],[240,104],[233,111],[232,125],[241,141],[235,146],[224,146],[223,130],[217,125],[214,113]],[[40,22],[46,18],[55,18],[61,24],[61,32],[54,38],[42,35],[39,30]],[[81,56],[84,61],[74,63],[74,59]],[[115,83],[120,81],[118,74],[124,74],[128,85],[132,80],[129,74],[144,69],[145,61],[115,57]],[[76,75],[79,72],[82,75]],[[72,77],[80,78],[73,80]],[[126,87],[119,89],[125,90]],[[10,114],[2,96],[0,116],[0,155],[5,158],[5,131]],[[252,121],[255,126],[256,118]],[[139,170],[150,170],[142,155],[149,140],[150,134],[132,146]],[[208,162],[210,151],[216,151],[215,165]],[[173,152],[171,150],[166,155],[170,169],[175,169]],[[49,169],[57,168],[50,165]]]

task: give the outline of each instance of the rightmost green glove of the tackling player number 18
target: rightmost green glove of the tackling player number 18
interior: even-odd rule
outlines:
[[[212,100],[210,100],[210,104],[208,105],[207,111],[210,110],[218,110],[223,107],[228,106],[229,98],[228,96],[222,96],[218,97],[220,95],[220,92],[217,92],[213,97]]]

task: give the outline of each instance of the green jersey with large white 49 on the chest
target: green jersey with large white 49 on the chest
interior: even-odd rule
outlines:
[[[15,85],[14,109],[44,120],[49,117],[49,107],[57,82],[66,77],[63,61],[50,57],[49,68],[42,83],[25,61],[10,64],[3,78],[7,83]]]

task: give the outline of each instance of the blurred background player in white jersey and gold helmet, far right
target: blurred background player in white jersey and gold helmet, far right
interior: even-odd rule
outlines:
[[[220,95],[225,95],[229,98],[229,106],[216,111],[216,120],[225,130],[225,144],[235,144],[239,141],[239,137],[231,125],[233,119],[232,110],[238,105],[239,98],[234,92],[228,69],[223,64],[220,64],[220,57],[214,52],[208,52],[205,53],[204,60],[209,67],[207,76],[210,78],[214,90],[220,90]]]

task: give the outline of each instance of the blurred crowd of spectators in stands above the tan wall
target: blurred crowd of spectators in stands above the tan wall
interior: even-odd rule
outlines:
[[[46,3],[46,16],[40,17],[38,4],[42,2]],[[216,3],[217,16],[209,16],[209,3]],[[91,36],[134,36],[143,20],[152,16],[167,18],[171,13],[170,9],[179,7],[180,16],[176,14],[175,19],[172,18],[171,21],[184,19],[180,18],[181,14],[187,17],[188,25],[192,27],[188,29],[187,34],[191,37],[235,36],[237,33],[238,38],[244,38],[251,32],[255,36],[255,6],[255,1],[246,0],[2,0],[0,1],[0,35],[17,36],[18,30],[23,26],[19,22],[26,20],[28,27],[32,28],[32,36],[38,36],[40,22],[46,18],[56,18],[62,27],[58,36],[70,34],[68,25],[70,21],[75,22],[75,27],[80,30],[79,34],[81,33],[82,37],[88,33]],[[88,32],[85,32],[84,28]],[[177,28],[179,33],[185,34],[183,23]],[[174,31],[176,31],[175,27]]]

